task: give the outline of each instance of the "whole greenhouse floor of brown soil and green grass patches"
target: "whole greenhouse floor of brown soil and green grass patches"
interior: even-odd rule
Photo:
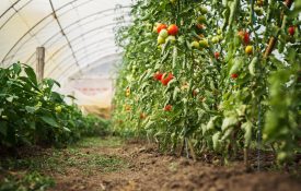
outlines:
[[[250,171],[241,163],[219,166],[193,162],[161,154],[155,145],[118,138],[90,138],[67,148],[36,147],[34,152],[23,150],[20,155],[16,162],[1,158],[0,180],[36,171],[50,178],[35,178],[35,181],[49,186],[51,180],[56,182],[51,191],[297,191],[301,188],[296,175],[271,169]]]

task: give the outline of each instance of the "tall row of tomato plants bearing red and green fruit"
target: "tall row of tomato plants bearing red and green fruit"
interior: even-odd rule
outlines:
[[[114,127],[160,148],[229,158],[300,152],[301,2],[137,0],[116,81]],[[263,143],[262,143],[263,139]]]

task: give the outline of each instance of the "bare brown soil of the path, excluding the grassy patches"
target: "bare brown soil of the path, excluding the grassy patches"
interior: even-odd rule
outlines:
[[[71,166],[65,174],[51,172],[53,191],[300,191],[301,181],[279,171],[250,171],[242,163],[218,166],[185,157],[160,154],[155,145],[128,142],[113,146],[85,146],[82,154],[118,157],[119,170],[94,169],[89,174]],[[67,157],[67,156],[66,156]],[[70,156],[69,156],[70,157]],[[66,158],[67,159],[67,158]],[[86,163],[86,162],[84,162]]]

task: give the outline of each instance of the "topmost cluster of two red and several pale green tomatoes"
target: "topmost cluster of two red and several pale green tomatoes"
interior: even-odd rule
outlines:
[[[157,32],[159,34],[158,36],[158,44],[159,45],[163,45],[166,41],[171,41],[174,43],[175,36],[178,33],[178,27],[175,24],[171,24],[170,26],[162,24],[162,23],[158,23],[154,26],[154,32]]]

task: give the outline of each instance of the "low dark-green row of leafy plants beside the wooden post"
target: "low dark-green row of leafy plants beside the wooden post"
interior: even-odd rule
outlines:
[[[108,122],[83,116],[67,97],[54,91],[51,79],[38,82],[34,70],[23,63],[0,68],[0,146],[63,145],[82,135],[104,134]]]

